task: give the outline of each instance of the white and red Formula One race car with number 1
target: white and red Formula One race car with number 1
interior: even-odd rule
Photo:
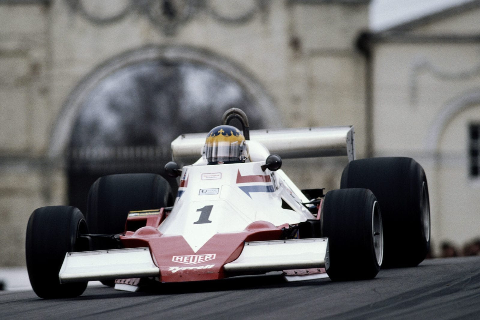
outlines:
[[[26,234],[36,294],[79,296],[93,280],[136,291],[270,272],[290,280],[361,280],[382,265],[423,261],[429,198],[415,160],[355,160],[352,127],[250,131],[235,108],[222,123],[172,142],[175,161],[196,160],[165,166],[180,177],[175,198],[159,175],[121,174],[92,185],[86,219],[70,206],[36,209]],[[340,189],[325,195],[300,190],[280,169],[281,157],[341,154],[350,162]]]

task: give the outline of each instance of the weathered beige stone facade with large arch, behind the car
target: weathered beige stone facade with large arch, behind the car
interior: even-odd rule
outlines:
[[[245,108],[252,129],[354,125],[365,156],[356,41],[368,5],[0,0],[0,265],[24,264],[34,209],[77,204],[105,173],[160,172],[171,138],[208,131],[228,107]],[[285,170],[300,187],[330,190],[345,164]]]

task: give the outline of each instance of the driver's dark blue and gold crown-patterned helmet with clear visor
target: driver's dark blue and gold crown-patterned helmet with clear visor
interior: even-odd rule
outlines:
[[[218,126],[208,132],[203,156],[209,165],[244,162],[247,157],[245,137],[233,126]]]

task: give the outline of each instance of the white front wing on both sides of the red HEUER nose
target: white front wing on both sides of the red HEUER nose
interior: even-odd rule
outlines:
[[[327,238],[245,242],[240,256],[226,263],[223,269],[228,276],[291,269],[328,269],[328,251]],[[182,273],[190,268],[195,268],[196,273],[208,273],[208,265],[183,267],[176,272]],[[59,273],[61,283],[142,277],[161,279],[158,262],[152,259],[148,247],[69,252]],[[198,280],[203,279],[199,277]]]

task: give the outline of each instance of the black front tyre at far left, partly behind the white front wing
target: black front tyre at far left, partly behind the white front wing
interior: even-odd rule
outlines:
[[[50,206],[36,209],[28,220],[25,253],[28,277],[41,298],[80,296],[87,282],[60,284],[59,272],[65,254],[87,251],[84,215],[75,207]]]

